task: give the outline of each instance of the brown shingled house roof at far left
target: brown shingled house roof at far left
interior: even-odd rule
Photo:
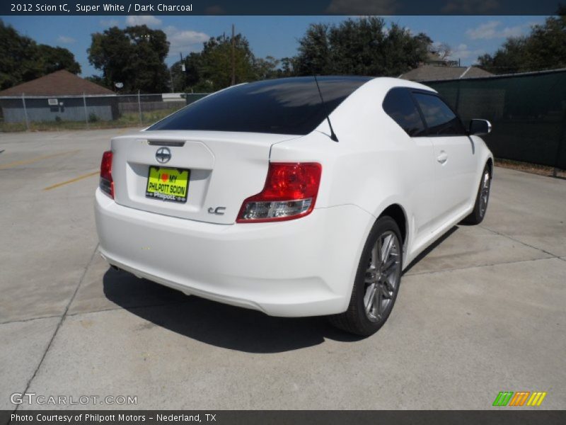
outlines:
[[[71,72],[61,69],[38,79],[27,81],[9,89],[0,91],[2,96],[73,96],[73,95],[109,95],[115,94],[103,86],[77,77]]]

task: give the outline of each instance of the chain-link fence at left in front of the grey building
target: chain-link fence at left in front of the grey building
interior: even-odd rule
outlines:
[[[146,126],[207,94],[0,97],[0,130]]]

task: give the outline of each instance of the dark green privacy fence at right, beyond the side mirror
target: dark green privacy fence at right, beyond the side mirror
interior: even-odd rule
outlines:
[[[490,120],[484,140],[497,158],[566,169],[566,69],[427,81],[461,115]]]

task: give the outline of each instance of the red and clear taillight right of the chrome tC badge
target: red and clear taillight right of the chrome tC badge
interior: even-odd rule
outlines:
[[[311,213],[322,166],[314,162],[270,163],[265,187],[243,201],[238,223],[293,220]]]

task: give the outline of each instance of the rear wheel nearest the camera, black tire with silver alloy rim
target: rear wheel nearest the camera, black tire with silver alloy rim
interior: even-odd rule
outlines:
[[[362,251],[348,310],[330,316],[336,327],[369,336],[385,324],[399,290],[403,245],[397,223],[381,217]]]

